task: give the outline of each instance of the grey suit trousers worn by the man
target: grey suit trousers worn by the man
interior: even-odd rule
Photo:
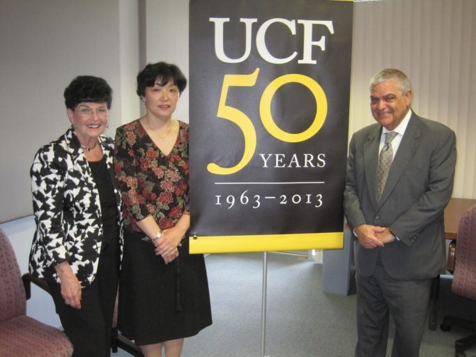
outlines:
[[[380,257],[370,276],[357,273],[355,357],[385,357],[389,312],[395,323],[392,357],[417,357],[429,307],[431,279],[397,280]]]

